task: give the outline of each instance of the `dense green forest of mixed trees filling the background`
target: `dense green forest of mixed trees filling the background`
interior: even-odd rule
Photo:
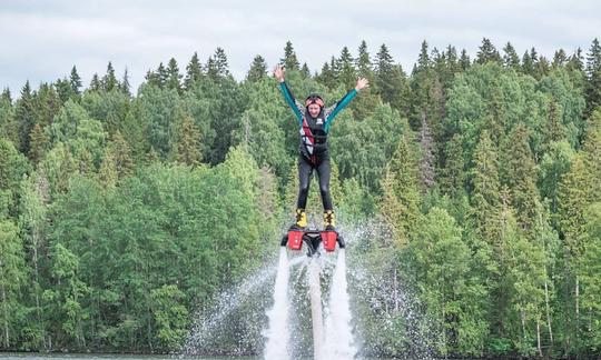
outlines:
[[[300,99],[370,80],[328,137],[334,206],[390,229],[355,257],[411,289],[436,356],[601,354],[598,39],[552,59],[423,41],[412,69],[363,41],[313,73],[283,50]],[[0,350],[177,352],[294,221],[298,129],[266,59],[23,81],[0,96]],[[396,293],[357,310],[368,356],[406,351]]]

